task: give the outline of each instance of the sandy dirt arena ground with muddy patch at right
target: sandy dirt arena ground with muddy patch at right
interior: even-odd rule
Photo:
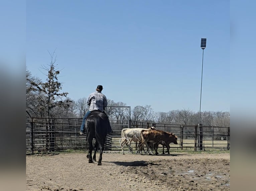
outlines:
[[[107,152],[102,166],[88,163],[85,152],[30,155],[26,156],[26,190],[230,190],[230,153]]]

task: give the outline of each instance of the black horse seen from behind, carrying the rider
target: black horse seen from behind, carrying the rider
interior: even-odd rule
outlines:
[[[98,165],[101,165],[106,136],[108,133],[112,132],[108,116],[101,111],[92,111],[86,118],[85,129],[87,131],[87,141],[89,143],[89,163],[93,163],[93,160],[96,161],[96,152],[98,147],[100,147]],[[93,138],[96,139],[96,144],[94,146]],[[94,155],[92,158],[93,149]]]

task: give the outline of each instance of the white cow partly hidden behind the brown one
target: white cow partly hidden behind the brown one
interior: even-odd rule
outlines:
[[[124,154],[124,152],[123,152],[124,144],[126,144],[129,148],[129,151],[131,151],[132,150],[131,141],[139,142],[139,145],[141,142],[143,142],[141,130],[156,130],[156,128],[152,126],[148,129],[144,129],[144,128],[124,128],[124,129],[122,129],[122,133],[121,133],[122,138],[121,138],[120,144],[121,144],[123,154]]]

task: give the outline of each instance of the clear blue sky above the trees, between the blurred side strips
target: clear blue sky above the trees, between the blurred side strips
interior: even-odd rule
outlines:
[[[230,110],[229,1],[32,1],[26,66],[43,81],[57,56],[63,91],[77,100],[103,85],[107,98],[154,111]],[[41,70],[43,71],[43,70]]]

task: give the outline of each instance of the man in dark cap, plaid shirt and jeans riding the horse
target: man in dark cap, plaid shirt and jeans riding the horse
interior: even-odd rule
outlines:
[[[98,85],[96,88],[96,92],[89,95],[87,104],[90,105],[89,111],[85,113],[85,116],[83,118],[82,125],[80,127],[79,133],[82,135],[85,132],[85,120],[87,116],[91,113],[91,111],[99,110],[103,113],[105,113],[105,108],[108,105],[106,95],[102,94],[101,91],[103,90],[103,87],[101,85]],[[106,114],[106,113],[105,113]],[[107,115],[107,114],[106,114]]]

